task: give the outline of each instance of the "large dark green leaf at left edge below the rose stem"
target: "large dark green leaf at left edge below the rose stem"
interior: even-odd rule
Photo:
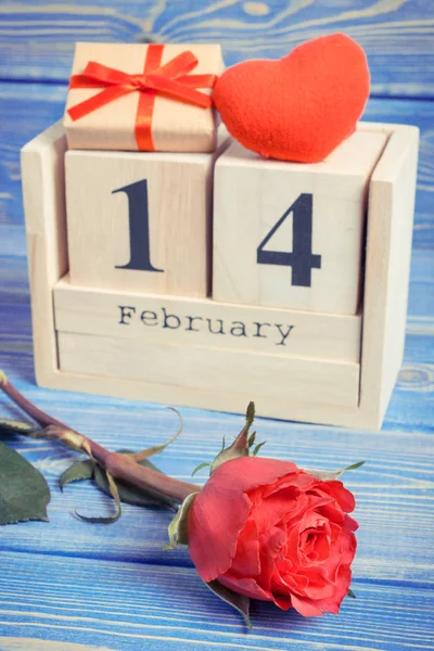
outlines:
[[[50,489],[41,473],[0,442],[0,524],[48,522]]]

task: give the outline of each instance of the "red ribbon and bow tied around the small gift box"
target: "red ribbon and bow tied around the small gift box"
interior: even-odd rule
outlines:
[[[164,46],[148,46],[143,73],[129,75],[123,71],[90,61],[82,75],[73,75],[69,88],[104,88],[92,98],[72,106],[69,117],[75,122],[129,92],[140,92],[135,136],[140,151],[155,151],[152,139],[152,114],[155,98],[163,93],[181,102],[209,108],[213,99],[197,88],[213,88],[217,75],[189,75],[199,63],[187,50],[161,65]]]

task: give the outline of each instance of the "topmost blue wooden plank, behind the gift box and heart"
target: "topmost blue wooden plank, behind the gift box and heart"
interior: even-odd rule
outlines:
[[[277,59],[304,40],[344,31],[367,51],[374,94],[434,94],[434,8],[427,0],[27,0],[0,12],[4,79],[65,82],[77,40],[220,42],[232,65]]]

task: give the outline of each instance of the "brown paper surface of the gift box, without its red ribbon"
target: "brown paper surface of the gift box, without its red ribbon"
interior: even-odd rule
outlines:
[[[148,44],[77,43],[73,75],[82,75],[89,62],[94,61],[129,75],[143,74]],[[152,46],[151,46],[152,47]],[[224,61],[217,44],[165,44],[161,65],[182,52],[190,51],[199,63],[192,75],[220,75]],[[69,88],[64,127],[69,149],[138,151],[135,136],[136,117],[141,92],[133,91],[104,106],[73,120],[67,111],[97,95],[102,87]],[[197,88],[210,94],[209,89]],[[152,141],[155,151],[212,152],[216,148],[218,117],[215,108],[203,108],[157,93],[151,118]],[[152,148],[151,148],[152,149]]]

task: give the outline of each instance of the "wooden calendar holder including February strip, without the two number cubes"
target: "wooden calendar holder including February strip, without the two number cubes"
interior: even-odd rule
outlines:
[[[55,125],[29,142],[22,167],[38,383],[234,412],[255,399],[260,416],[381,426],[404,350],[418,130],[360,130],[387,142],[369,184],[357,316],[72,284],[65,136]]]

